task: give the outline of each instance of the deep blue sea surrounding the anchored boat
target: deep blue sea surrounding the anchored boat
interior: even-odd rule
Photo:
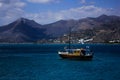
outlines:
[[[89,46],[92,61],[61,59],[68,44],[0,44],[0,80],[120,80],[119,44]]]

